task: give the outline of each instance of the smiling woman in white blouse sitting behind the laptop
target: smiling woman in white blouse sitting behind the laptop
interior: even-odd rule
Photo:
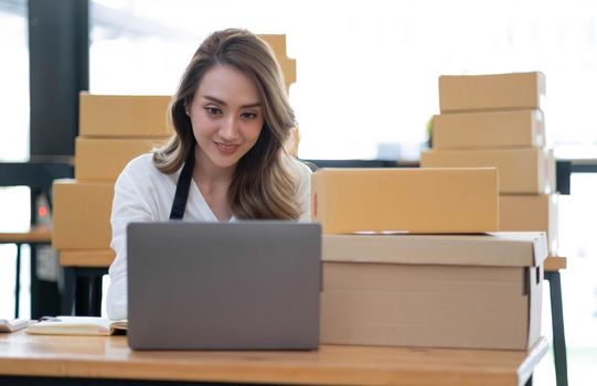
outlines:
[[[127,318],[126,226],[168,219],[310,218],[310,169],[285,152],[295,126],[280,67],[246,30],[210,35],[173,96],[174,135],[115,185],[107,311]]]

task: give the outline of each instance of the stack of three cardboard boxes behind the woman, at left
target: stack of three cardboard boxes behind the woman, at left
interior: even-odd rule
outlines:
[[[169,96],[81,94],[75,180],[53,185],[52,244],[63,266],[105,266],[114,258],[114,183],[131,159],[168,138],[169,101]]]

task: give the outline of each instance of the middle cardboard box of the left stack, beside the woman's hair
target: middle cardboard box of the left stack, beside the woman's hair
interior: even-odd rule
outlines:
[[[77,181],[114,182],[130,160],[160,146],[164,140],[78,137],[75,142],[75,178]]]

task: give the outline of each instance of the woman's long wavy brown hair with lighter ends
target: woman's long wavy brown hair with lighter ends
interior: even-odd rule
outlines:
[[[297,219],[296,180],[284,161],[295,114],[280,66],[269,45],[239,29],[211,34],[194,53],[169,106],[174,129],[169,141],[153,151],[153,163],[166,174],[178,171],[195,138],[185,106],[191,105],[205,73],[215,65],[230,65],[253,79],[264,110],[264,126],[255,146],[238,161],[228,186],[228,205],[236,218]]]

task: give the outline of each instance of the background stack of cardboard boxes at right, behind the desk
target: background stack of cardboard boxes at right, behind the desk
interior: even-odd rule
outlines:
[[[557,248],[555,161],[545,148],[542,73],[440,76],[423,168],[497,167],[500,229],[542,230]]]

